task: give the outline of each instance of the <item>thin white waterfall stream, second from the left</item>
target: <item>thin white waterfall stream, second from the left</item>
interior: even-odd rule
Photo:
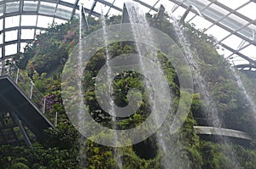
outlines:
[[[103,40],[104,40],[104,43],[105,43],[105,51],[106,51],[106,65],[107,65],[107,84],[111,84],[111,75],[113,75],[113,71],[111,69],[111,66],[109,65],[109,61],[111,59],[110,55],[109,55],[109,52],[108,52],[108,31],[107,31],[107,23],[106,23],[106,20],[105,20],[105,17],[104,17],[104,14],[103,14],[103,11],[102,11],[102,30],[103,30]],[[113,87],[108,86],[108,93],[113,93]],[[113,129],[116,129],[116,113],[115,113],[115,109],[114,109],[114,103],[113,103],[113,98],[110,100],[110,108],[108,110],[108,113],[112,115],[112,122],[113,122]],[[118,138],[117,136],[115,135],[114,136],[114,140],[115,140],[115,144],[118,144]],[[122,159],[119,158],[119,148],[113,148],[113,155],[114,155],[114,159],[115,161],[117,161],[117,165],[119,166],[119,169],[122,168]]]

